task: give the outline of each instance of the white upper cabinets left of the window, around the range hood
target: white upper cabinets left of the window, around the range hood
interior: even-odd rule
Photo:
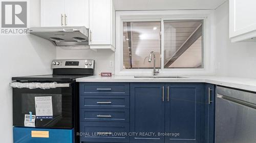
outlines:
[[[112,0],[41,0],[41,26],[86,26],[91,49],[115,51]]]

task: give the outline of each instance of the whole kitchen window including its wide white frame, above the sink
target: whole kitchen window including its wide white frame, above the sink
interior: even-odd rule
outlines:
[[[117,11],[115,74],[209,75],[215,73],[214,11]]]

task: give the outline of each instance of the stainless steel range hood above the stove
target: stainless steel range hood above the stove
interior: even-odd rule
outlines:
[[[89,46],[88,28],[72,27],[31,27],[30,34],[51,41],[55,46]]]

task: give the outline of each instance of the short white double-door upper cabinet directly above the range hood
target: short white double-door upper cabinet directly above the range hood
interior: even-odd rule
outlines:
[[[41,0],[41,26],[89,28],[89,0]]]

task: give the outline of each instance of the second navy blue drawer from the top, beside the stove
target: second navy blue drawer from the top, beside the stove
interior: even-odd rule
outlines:
[[[80,108],[130,108],[130,96],[80,96]]]

